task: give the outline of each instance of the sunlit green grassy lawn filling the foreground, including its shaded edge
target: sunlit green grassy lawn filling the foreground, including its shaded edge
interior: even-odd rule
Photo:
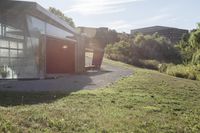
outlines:
[[[200,82],[129,67],[117,83],[71,94],[0,93],[0,132],[200,132]]]

